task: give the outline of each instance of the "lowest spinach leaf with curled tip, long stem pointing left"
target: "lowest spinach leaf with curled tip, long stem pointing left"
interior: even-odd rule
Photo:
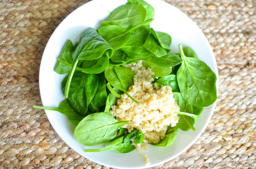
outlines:
[[[135,147],[133,146],[133,142],[131,141],[132,138],[134,138],[134,143],[137,145],[143,142],[144,135],[142,134],[142,132],[135,130],[125,136],[122,136],[113,141],[110,141],[109,145],[104,148],[87,149],[87,150],[84,150],[84,152],[100,152],[100,151],[113,150],[120,153],[128,153],[135,149]]]

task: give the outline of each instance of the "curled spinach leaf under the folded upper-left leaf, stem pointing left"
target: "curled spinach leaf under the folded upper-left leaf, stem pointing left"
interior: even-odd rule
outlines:
[[[70,64],[64,60],[61,60],[60,58],[58,58],[58,62],[64,64],[66,67],[70,67],[70,69],[72,67],[72,62]],[[83,73],[101,73],[106,69],[106,67],[108,67],[109,58],[108,56],[103,54],[102,57],[98,59],[84,60],[83,62],[81,62],[81,65],[82,65],[82,68],[76,66],[75,69]]]

